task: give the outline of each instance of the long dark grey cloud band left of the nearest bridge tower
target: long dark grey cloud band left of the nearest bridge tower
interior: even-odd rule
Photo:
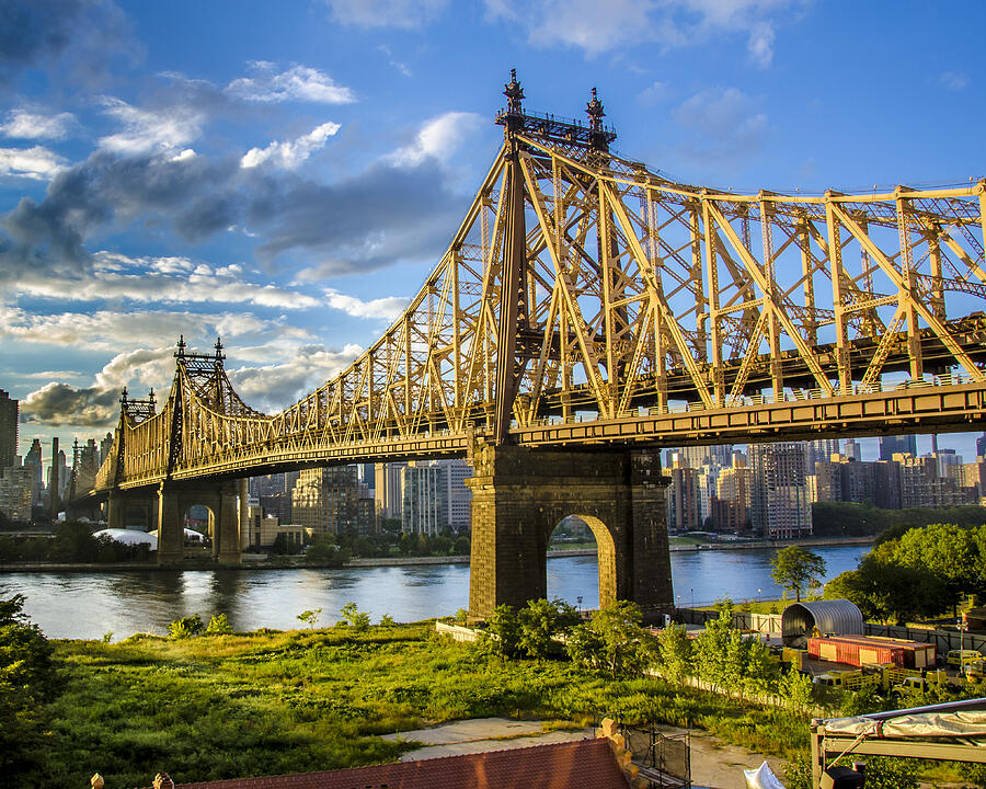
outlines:
[[[58,174],[43,201],[25,197],[2,219],[0,278],[84,268],[88,239],[134,221],[170,226],[193,242],[238,226],[260,239],[262,258],[316,256],[323,275],[376,268],[439,254],[463,203],[431,158],[318,184],[231,158],[98,151]]]

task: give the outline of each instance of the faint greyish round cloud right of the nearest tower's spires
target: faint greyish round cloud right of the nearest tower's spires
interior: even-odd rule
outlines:
[[[767,132],[767,115],[756,102],[735,88],[700,91],[672,113],[685,128],[686,156],[697,161],[729,161],[760,148]]]

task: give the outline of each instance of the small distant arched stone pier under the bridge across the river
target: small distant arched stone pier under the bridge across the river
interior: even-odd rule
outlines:
[[[209,511],[213,559],[220,564],[240,563],[240,488],[245,480],[228,480],[208,488],[202,484],[162,482],[157,491],[158,564],[176,564],[184,558],[185,513],[202,504]]]

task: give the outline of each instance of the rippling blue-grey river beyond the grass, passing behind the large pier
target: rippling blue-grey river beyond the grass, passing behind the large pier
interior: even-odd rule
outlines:
[[[825,559],[826,580],[856,568],[869,546],[812,548]],[[672,553],[678,605],[779,598],[770,580],[773,551],[703,550]],[[193,570],[0,574],[0,599],[27,598],[25,613],[49,638],[114,640],[135,632],[163,633],[168,622],[193,614],[205,621],[226,614],[234,630],[300,627],[297,615],[322,609],[319,622],[339,619],[354,602],[374,621],[389,614],[414,621],[454,614],[469,602],[468,564],[342,568],[333,570]],[[573,605],[598,605],[595,557],[548,561],[548,595]]]

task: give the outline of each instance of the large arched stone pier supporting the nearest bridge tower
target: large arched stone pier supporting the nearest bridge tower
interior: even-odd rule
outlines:
[[[596,538],[599,603],[640,605],[644,621],[673,608],[665,514],[668,480],[649,450],[565,451],[492,446],[470,453],[472,557],[469,615],[548,595],[547,550],[554,527],[577,515]]]

